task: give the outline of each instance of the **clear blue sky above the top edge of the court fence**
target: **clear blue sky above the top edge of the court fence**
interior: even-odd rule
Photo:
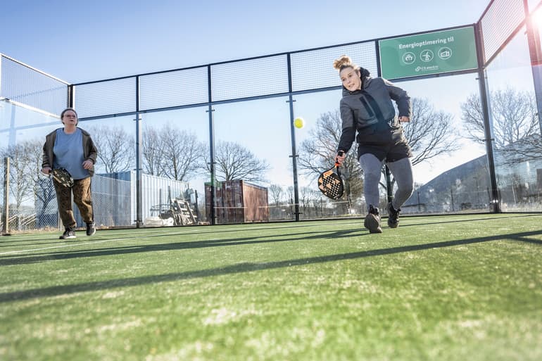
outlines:
[[[0,0],[0,53],[77,83],[467,25],[487,4]]]

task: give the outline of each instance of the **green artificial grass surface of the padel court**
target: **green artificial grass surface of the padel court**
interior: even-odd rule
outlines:
[[[542,215],[362,224],[0,237],[0,360],[542,360]]]

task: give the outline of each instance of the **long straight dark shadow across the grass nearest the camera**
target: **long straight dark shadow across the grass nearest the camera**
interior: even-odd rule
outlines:
[[[308,258],[294,258],[291,260],[282,260],[276,262],[261,262],[250,263],[244,262],[237,265],[230,265],[226,267],[211,268],[208,270],[188,271],[188,272],[175,272],[169,274],[159,274],[153,276],[144,277],[131,277],[126,279],[112,279],[110,281],[94,281],[86,282],[83,284],[73,284],[65,286],[52,286],[43,289],[30,289],[26,291],[15,291],[0,293],[0,303],[6,303],[17,300],[28,300],[32,298],[42,298],[51,296],[62,296],[72,293],[88,292],[88,291],[100,291],[103,289],[115,289],[120,287],[140,286],[142,284],[153,284],[158,282],[170,282],[179,281],[184,279],[194,279],[203,277],[220,276],[225,274],[237,274],[243,272],[253,272],[259,270],[272,270],[282,267],[295,267],[298,265],[310,265],[323,262],[335,262],[341,260],[353,260],[356,258],[372,257],[377,255],[391,255],[395,253],[422,251],[430,248],[445,248],[460,246],[472,243],[482,243],[489,241],[500,241],[507,239],[515,239],[517,241],[535,243],[542,246],[542,241],[538,239],[532,239],[531,236],[539,236],[541,231],[534,232],[521,232],[515,234],[505,234],[496,236],[477,237],[473,239],[463,239],[457,241],[443,241],[434,243],[416,244],[412,246],[401,246],[392,248],[381,248],[372,251],[360,251],[352,253],[341,253],[337,255],[324,255],[318,257]]]

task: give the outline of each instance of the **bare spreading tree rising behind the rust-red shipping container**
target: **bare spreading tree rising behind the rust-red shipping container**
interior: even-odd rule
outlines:
[[[209,157],[206,155],[206,170],[210,172]],[[244,146],[231,141],[219,141],[215,148],[216,179],[231,181],[243,179],[247,182],[261,182],[271,167],[266,160],[260,160]]]

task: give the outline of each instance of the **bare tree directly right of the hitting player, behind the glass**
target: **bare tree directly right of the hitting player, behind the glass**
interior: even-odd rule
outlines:
[[[453,115],[436,111],[427,99],[412,99],[412,117],[403,123],[405,137],[414,157],[412,165],[448,154],[459,148]]]

